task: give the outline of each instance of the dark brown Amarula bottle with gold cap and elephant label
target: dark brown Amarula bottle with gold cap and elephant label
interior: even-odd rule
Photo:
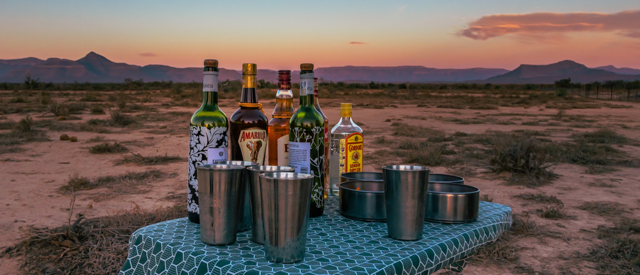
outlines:
[[[242,95],[239,108],[231,115],[230,155],[232,161],[253,161],[264,165],[267,152],[267,116],[258,103],[257,68],[253,63],[242,65]]]

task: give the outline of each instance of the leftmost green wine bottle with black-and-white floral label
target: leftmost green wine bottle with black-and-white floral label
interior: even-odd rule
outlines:
[[[200,223],[196,165],[227,161],[228,120],[218,107],[218,60],[206,59],[203,70],[202,106],[191,116],[189,131],[187,209],[193,223]]]

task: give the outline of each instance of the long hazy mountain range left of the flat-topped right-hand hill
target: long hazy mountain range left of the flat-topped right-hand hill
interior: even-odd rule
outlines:
[[[501,68],[438,69],[422,66],[399,67],[327,67],[316,68],[316,76],[324,81],[349,82],[426,82],[466,81],[485,79],[509,72]],[[92,82],[122,83],[125,78],[143,81],[202,81],[202,68],[175,68],[165,65],[138,66],[113,62],[100,54],[90,52],[81,59],[69,60],[49,58],[23,58],[0,60],[0,82],[20,83],[26,75],[52,83]],[[237,80],[242,76],[237,70],[220,68],[221,80]],[[258,79],[275,82],[276,70],[258,70]],[[298,81],[298,71],[292,72],[293,81]]]

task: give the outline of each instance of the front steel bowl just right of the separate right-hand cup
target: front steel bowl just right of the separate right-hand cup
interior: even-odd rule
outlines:
[[[433,223],[472,223],[477,220],[480,189],[464,184],[429,182],[424,220]]]

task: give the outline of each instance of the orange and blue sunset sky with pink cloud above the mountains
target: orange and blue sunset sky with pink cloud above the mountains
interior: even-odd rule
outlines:
[[[2,1],[0,59],[640,68],[640,1]]]

